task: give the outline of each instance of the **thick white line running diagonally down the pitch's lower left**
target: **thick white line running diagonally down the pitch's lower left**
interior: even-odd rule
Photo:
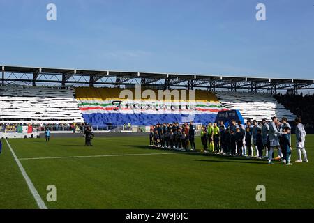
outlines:
[[[13,148],[8,143],[8,140],[6,140],[6,144],[8,144],[8,147],[10,148],[10,151],[11,151],[13,157],[14,157],[15,162],[17,163],[17,166],[20,168],[20,171],[21,171],[21,173],[22,173],[22,175],[23,175],[23,177],[24,177],[24,179],[25,179],[25,181],[27,183],[27,186],[29,187],[29,190],[31,191],[31,194],[33,194],[33,198],[36,200],[38,208],[40,208],[40,209],[47,209],[47,206],[45,206],[45,203],[44,203],[43,199],[41,199],[40,195],[38,194],[38,191],[36,190],[35,186],[31,182],[31,179],[27,175],[27,173],[26,173],[24,167],[22,166],[20,160],[17,159],[17,156],[15,155],[15,153],[13,151]]]

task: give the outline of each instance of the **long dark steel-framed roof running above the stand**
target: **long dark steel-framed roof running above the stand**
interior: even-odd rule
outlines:
[[[135,84],[158,89],[207,89],[217,91],[267,91],[276,94],[287,90],[314,89],[314,79],[279,79],[262,77],[232,77],[225,75],[185,75],[153,72],[125,72],[114,70],[80,70],[66,68],[40,68],[0,66],[2,84],[54,85],[54,86],[116,86]]]

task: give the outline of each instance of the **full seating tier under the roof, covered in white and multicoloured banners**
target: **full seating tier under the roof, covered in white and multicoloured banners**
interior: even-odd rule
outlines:
[[[94,87],[0,86],[0,123],[33,125],[89,123],[94,126],[151,125],[151,123],[214,122],[216,114],[226,109],[239,109],[244,118],[261,121],[272,116],[294,120],[297,114],[313,123],[313,96],[195,91],[195,100],[155,99],[126,100],[123,89]],[[128,89],[135,95],[135,89]],[[145,89],[142,89],[144,91]],[[157,90],[150,89],[158,95]],[[187,95],[189,97],[189,95]],[[142,97],[144,98],[144,97]],[[182,99],[182,98],[181,98]],[[179,102],[181,106],[179,107]],[[281,105],[283,103],[287,107]],[[174,105],[174,106],[173,106]],[[195,116],[194,114],[195,106]],[[193,108],[193,109],[191,109]],[[290,109],[291,112],[288,110]],[[292,114],[292,112],[294,114]]]

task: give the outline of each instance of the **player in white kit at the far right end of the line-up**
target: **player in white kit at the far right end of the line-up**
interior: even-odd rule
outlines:
[[[299,159],[296,160],[296,162],[302,162],[302,153],[304,156],[304,162],[308,162],[308,157],[306,155],[305,149],[306,131],[304,130],[304,125],[301,123],[301,118],[296,118],[295,124],[297,125],[297,127],[295,128],[295,136],[297,139],[297,152],[299,155]]]

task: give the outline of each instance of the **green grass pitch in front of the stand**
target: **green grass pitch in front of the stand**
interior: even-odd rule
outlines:
[[[148,137],[95,138],[93,147],[83,146],[83,138],[8,141],[47,208],[314,208],[314,136],[306,139],[310,162],[289,167],[153,150]],[[38,208],[1,140],[0,208]],[[32,157],[63,158],[23,160]],[[57,187],[57,202],[46,200],[47,185]],[[257,185],[265,185],[266,202],[256,201]]]

